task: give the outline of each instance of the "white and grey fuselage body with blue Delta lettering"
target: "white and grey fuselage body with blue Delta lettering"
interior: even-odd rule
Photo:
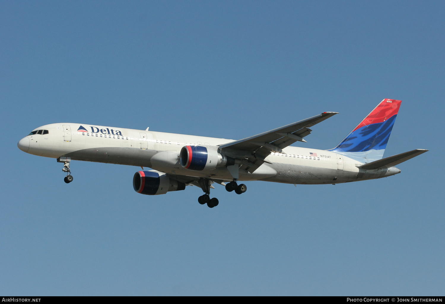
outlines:
[[[126,128],[111,128],[82,124],[48,124],[36,128],[48,134],[28,135],[20,140],[24,152],[71,160],[149,167],[160,172],[181,176],[206,177],[231,181],[226,167],[192,171],[179,164],[179,152],[185,145],[202,145],[218,150],[218,145],[233,140],[152,132]],[[28,145],[28,147],[27,147]],[[311,148],[289,146],[283,153],[271,153],[255,172],[239,169],[239,180],[266,180],[287,184],[337,184],[356,180],[375,179],[400,172],[397,168],[362,170],[363,164],[347,156]],[[269,164],[271,163],[271,164]]]

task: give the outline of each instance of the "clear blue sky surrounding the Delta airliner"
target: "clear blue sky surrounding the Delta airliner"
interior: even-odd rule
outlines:
[[[0,293],[440,295],[445,286],[440,1],[0,2]],[[401,174],[333,185],[134,192],[137,167],[21,152],[56,122],[241,139],[324,111],[335,147],[403,100]]]

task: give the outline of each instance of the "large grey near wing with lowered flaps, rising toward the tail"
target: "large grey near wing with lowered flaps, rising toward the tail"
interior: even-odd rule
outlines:
[[[242,169],[248,172],[254,172],[259,166],[265,162],[265,158],[271,152],[283,152],[283,148],[295,143],[303,141],[304,136],[309,135],[315,124],[338,114],[337,112],[323,112],[320,115],[312,116],[305,120],[297,121],[293,124],[285,125],[267,132],[247,137],[242,140],[232,141],[231,143],[219,146],[221,152],[227,156],[242,160]]]

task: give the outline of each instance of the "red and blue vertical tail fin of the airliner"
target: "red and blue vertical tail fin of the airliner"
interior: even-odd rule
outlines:
[[[401,100],[384,99],[332,152],[365,161],[380,160],[388,143]]]

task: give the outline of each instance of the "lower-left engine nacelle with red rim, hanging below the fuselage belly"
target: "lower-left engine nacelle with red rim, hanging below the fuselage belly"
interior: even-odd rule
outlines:
[[[166,194],[169,191],[179,191],[186,188],[186,184],[173,180],[162,172],[139,171],[133,176],[134,191],[146,195]]]

